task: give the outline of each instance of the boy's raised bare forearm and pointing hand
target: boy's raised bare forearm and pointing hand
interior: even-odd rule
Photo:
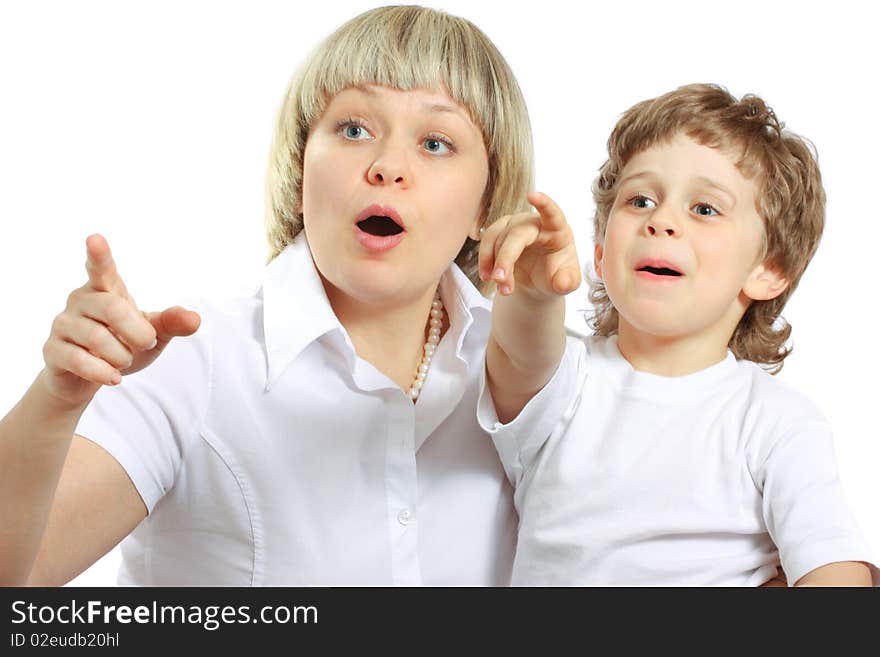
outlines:
[[[537,213],[504,217],[485,232],[480,277],[498,292],[486,349],[489,391],[509,422],[550,380],[565,350],[564,295],[581,283],[574,235],[545,194],[528,196]]]

